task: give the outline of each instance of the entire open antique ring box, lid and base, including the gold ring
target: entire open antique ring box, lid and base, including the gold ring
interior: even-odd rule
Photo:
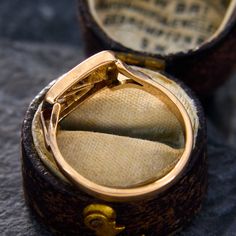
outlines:
[[[79,1],[87,52],[113,52],[102,52],[95,64],[89,58],[84,69],[80,64],[43,89],[22,127],[25,197],[55,234],[169,235],[199,211],[207,189],[205,118],[185,83],[205,95],[232,70],[235,6],[234,1],[181,2],[182,7],[180,1]],[[210,33],[219,30],[208,40],[200,30],[191,39],[195,43],[184,39],[184,44],[180,36],[173,48],[156,36],[146,41],[146,32],[129,29],[129,24],[119,28],[126,14],[134,19],[131,23],[137,21],[137,11],[149,22],[151,10],[160,18],[165,7],[169,13],[181,12],[190,2],[192,11],[207,4],[217,9],[208,15],[212,24],[218,23],[206,27],[213,27]],[[125,16],[114,17],[117,13]],[[185,38],[193,33],[189,31],[180,33]],[[205,41],[196,44],[199,35]],[[166,45],[153,49],[150,41]],[[228,64],[222,64],[226,59]],[[60,82],[64,79],[65,87]],[[150,86],[154,90],[147,89]],[[173,170],[178,170],[176,175],[162,182]]]

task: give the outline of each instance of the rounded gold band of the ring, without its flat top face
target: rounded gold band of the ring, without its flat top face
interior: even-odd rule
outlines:
[[[153,80],[149,76],[128,68],[119,60],[116,60],[116,66],[119,74],[117,81],[112,81],[109,86],[104,85],[98,90],[94,90],[91,95],[101,91],[105,87],[111,88],[111,90],[122,89],[127,87],[136,87],[142,89],[162,100],[168,108],[173,112],[182,125],[185,134],[185,147],[182,156],[176,166],[163,178],[158,179],[152,183],[148,183],[144,186],[135,188],[110,188],[96,184],[87,178],[80,175],[67,161],[63,158],[58,144],[57,144],[57,129],[60,121],[60,114],[63,112],[63,106],[57,101],[53,104],[51,111],[51,118],[49,120],[49,127],[47,129],[48,146],[54,156],[60,171],[76,186],[82,188],[87,193],[105,200],[112,201],[128,201],[132,199],[143,199],[151,197],[154,194],[160,193],[170,185],[172,185],[185,169],[193,147],[193,130],[190,118],[183,104],[176,98],[176,96],[168,89],[163,87],[157,81]],[[164,77],[163,75],[159,74]],[[122,79],[120,79],[122,77]],[[112,85],[112,86],[111,86]],[[50,93],[50,90],[49,90]],[[89,96],[90,97],[90,96]],[[88,97],[87,97],[88,98]],[[84,99],[84,101],[87,100]],[[77,101],[75,101],[78,106]]]

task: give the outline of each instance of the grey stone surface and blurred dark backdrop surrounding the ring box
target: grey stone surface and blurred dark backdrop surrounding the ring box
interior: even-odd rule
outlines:
[[[33,97],[84,58],[76,8],[73,0],[0,0],[0,235],[50,235],[24,202],[20,128]],[[180,235],[233,236],[236,76],[204,104],[209,191],[202,211]]]

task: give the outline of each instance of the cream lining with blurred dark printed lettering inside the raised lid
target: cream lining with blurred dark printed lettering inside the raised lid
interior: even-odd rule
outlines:
[[[231,0],[87,0],[105,34],[127,48],[155,54],[195,50],[231,17]]]

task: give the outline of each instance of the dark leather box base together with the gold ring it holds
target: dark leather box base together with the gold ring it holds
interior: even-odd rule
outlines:
[[[25,196],[53,232],[154,235],[180,230],[207,186],[198,100],[164,73],[100,52],[30,105]]]

